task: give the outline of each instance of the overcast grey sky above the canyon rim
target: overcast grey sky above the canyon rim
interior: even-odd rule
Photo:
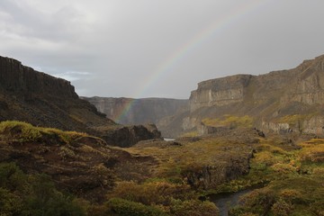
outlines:
[[[0,0],[0,56],[80,96],[189,98],[324,54],[322,0]]]

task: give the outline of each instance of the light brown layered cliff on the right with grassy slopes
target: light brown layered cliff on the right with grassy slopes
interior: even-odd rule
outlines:
[[[227,127],[249,116],[257,128],[275,132],[322,132],[324,55],[266,75],[236,75],[203,81],[190,96],[182,130]],[[204,121],[211,125],[204,125]]]

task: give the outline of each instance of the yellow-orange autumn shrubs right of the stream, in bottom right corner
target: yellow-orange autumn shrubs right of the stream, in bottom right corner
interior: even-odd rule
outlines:
[[[242,197],[230,215],[324,215],[324,139],[311,139],[300,147],[287,150],[261,143],[249,174],[218,188],[236,191],[265,184]]]

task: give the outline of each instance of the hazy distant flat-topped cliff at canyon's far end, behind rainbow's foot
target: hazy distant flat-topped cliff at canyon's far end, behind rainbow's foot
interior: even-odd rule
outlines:
[[[188,111],[188,100],[168,98],[82,97],[98,111],[121,124],[157,124],[163,136],[169,137],[167,119]]]

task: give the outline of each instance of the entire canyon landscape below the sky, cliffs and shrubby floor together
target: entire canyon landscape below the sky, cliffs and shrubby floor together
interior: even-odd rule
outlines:
[[[189,100],[85,98],[0,57],[0,214],[321,215],[323,72],[320,56]],[[227,210],[208,200],[243,190]]]

